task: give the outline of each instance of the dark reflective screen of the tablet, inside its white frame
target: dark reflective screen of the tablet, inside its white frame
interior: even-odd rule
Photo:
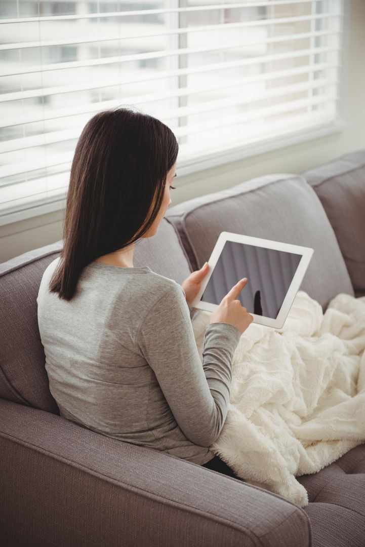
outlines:
[[[249,313],[276,319],[301,259],[297,253],[226,241],[201,300],[219,305],[247,277],[238,300]]]

